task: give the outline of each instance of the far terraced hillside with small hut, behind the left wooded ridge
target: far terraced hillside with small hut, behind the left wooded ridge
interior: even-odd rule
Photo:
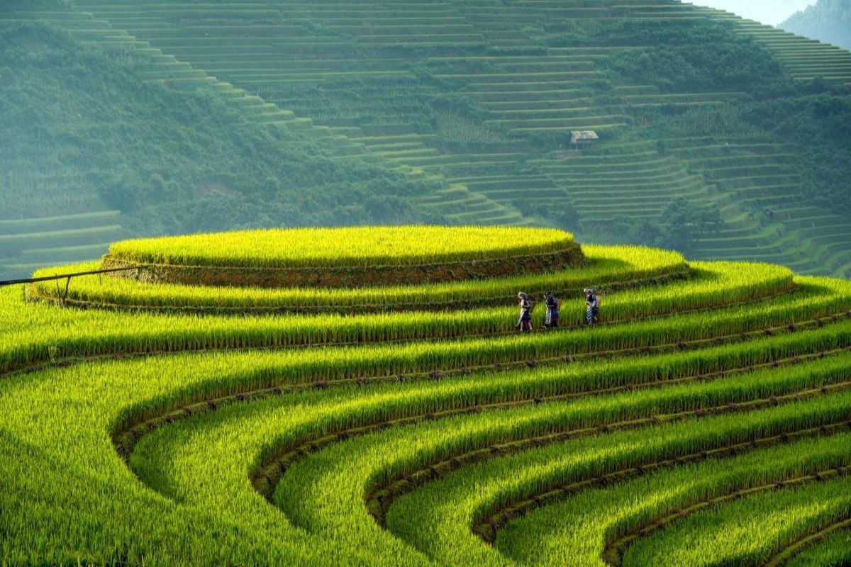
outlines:
[[[420,202],[457,222],[851,269],[844,50],[673,0],[77,6],[443,175]],[[578,129],[597,147],[568,151]]]

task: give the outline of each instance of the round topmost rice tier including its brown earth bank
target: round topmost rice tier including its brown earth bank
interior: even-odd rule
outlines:
[[[107,267],[138,268],[123,273],[137,280],[266,288],[421,285],[584,262],[563,230],[435,226],[168,236],[117,242],[105,259]]]

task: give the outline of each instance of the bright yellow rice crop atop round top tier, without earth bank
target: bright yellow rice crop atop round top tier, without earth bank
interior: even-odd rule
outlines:
[[[517,227],[270,229],[122,241],[114,258],[140,264],[310,268],[437,264],[558,252],[574,237]]]

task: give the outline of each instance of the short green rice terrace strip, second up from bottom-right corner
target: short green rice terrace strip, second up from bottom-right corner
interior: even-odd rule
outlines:
[[[626,565],[768,564],[785,547],[851,516],[851,477],[759,494],[637,541]]]

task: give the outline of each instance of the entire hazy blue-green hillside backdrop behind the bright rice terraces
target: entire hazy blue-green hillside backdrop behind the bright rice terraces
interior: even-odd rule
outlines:
[[[0,220],[15,269],[415,221],[851,275],[841,48],[676,0],[14,3],[0,215],[49,217]]]

